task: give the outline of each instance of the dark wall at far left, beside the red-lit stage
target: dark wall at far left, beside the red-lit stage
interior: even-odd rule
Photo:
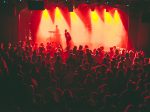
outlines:
[[[18,16],[13,7],[0,6],[0,42],[17,41]]]

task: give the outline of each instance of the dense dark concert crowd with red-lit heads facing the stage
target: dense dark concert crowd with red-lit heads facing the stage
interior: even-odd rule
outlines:
[[[150,59],[116,46],[1,43],[0,112],[150,112]]]

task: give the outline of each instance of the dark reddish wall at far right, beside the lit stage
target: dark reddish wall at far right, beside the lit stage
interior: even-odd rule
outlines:
[[[150,56],[150,20],[143,21],[144,11],[129,11],[129,48],[145,51]],[[149,17],[149,13],[146,15]]]

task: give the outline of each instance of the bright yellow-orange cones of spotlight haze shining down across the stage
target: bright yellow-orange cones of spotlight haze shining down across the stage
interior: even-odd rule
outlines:
[[[78,16],[80,13],[79,9],[74,9],[74,12],[67,12],[67,15],[68,13],[70,14],[68,17],[70,25],[64,17],[65,13],[62,13],[58,7],[56,7],[54,12],[54,22],[52,22],[48,10],[44,10],[37,32],[37,42],[45,43],[49,38],[56,38],[56,35],[49,31],[56,31],[55,27],[58,25],[59,38],[63,48],[66,47],[64,37],[65,29],[68,29],[74,45],[77,46],[80,44],[88,45],[92,49],[104,46],[106,48],[105,50],[112,46],[127,47],[127,31],[123,26],[117,10],[111,13],[111,9],[110,12],[106,12],[106,9],[104,9],[103,17],[98,14],[101,12],[98,12],[96,9],[95,11],[89,11],[87,15],[83,16],[90,17],[90,21],[86,21],[86,19]],[[104,18],[104,21],[101,18]]]

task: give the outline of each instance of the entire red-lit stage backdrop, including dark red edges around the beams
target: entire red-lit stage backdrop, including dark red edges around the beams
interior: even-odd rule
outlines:
[[[24,16],[24,13],[22,11],[20,17]],[[64,30],[67,29],[74,45],[88,45],[92,49],[104,46],[107,50],[112,46],[127,48],[128,20],[124,19],[127,15],[123,14],[123,11],[113,7],[108,9],[97,6],[94,11],[91,11],[88,6],[81,5],[74,8],[73,12],[69,12],[66,7],[53,7],[43,11],[32,11],[29,14],[29,21],[32,36],[37,43],[46,43],[50,38],[54,38],[57,25],[63,48],[66,47]],[[20,18],[19,21],[21,36],[22,30],[26,29],[23,27],[26,26],[22,25],[24,19]]]

